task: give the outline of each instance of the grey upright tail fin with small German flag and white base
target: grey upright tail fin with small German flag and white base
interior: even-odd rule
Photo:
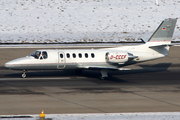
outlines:
[[[174,28],[177,19],[165,19],[149,38],[148,42],[153,42],[153,45],[171,44],[171,39],[174,33]]]

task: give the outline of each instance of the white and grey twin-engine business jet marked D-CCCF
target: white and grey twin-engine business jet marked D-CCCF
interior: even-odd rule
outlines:
[[[5,67],[22,70],[99,70],[102,78],[108,70],[122,70],[123,66],[162,58],[168,55],[177,19],[165,19],[145,44],[105,49],[37,50],[29,56],[5,63]]]

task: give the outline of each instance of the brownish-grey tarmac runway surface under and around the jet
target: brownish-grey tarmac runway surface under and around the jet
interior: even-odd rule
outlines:
[[[131,71],[22,71],[5,62],[37,48],[0,49],[0,115],[180,111],[180,47],[165,58],[129,66]],[[38,48],[39,49],[39,48]]]

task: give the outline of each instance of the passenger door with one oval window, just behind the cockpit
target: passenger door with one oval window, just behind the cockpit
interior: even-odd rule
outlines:
[[[65,68],[65,63],[66,63],[66,59],[65,59],[65,54],[64,52],[58,52],[58,65],[57,68],[58,69],[64,69]]]

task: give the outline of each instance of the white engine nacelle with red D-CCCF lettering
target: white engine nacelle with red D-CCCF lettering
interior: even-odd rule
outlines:
[[[127,52],[107,52],[105,56],[106,62],[110,63],[125,63],[128,61]]]

